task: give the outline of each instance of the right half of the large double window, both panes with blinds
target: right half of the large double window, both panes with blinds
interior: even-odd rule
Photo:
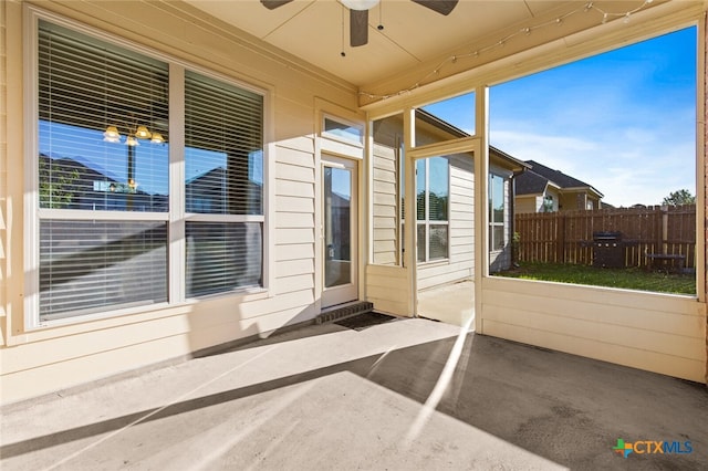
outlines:
[[[262,286],[263,97],[185,75],[187,296]]]

